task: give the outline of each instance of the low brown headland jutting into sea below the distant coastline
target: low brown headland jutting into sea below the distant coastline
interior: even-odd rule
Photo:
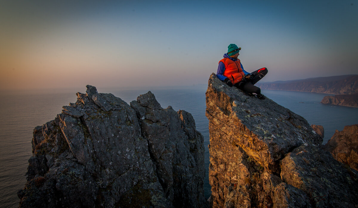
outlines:
[[[323,104],[332,104],[332,105],[343,105],[349,107],[358,107],[358,93],[351,95],[334,95],[334,96],[324,96],[321,100]]]

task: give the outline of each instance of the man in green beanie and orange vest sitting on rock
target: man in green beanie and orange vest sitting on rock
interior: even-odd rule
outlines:
[[[244,70],[240,59],[237,58],[241,48],[235,44],[230,44],[227,48],[224,58],[219,61],[216,76],[229,86],[235,86],[251,95],[256,95],[259,99],[265,99],[261,89],[254,84],[267,74],[267,68],[261,68],[250,74]]]

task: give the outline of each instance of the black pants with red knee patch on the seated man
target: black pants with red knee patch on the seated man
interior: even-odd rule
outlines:
[[[259,70],[253,71],[251,74],[253,78],[246,81],[246,83],[239,82],[234,84],[238,89],[246,91],[248,93],[261,94],[261,89],[254,84],[256,84],[260,79],[262,79],[267,74],[267,68],[261,68]]]

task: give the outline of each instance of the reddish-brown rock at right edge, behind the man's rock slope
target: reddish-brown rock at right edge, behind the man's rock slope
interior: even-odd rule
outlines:
[[[336,130],[324,149],[332,153],[334,159],[358,170],[358,124],[345,126],[342,131]]]

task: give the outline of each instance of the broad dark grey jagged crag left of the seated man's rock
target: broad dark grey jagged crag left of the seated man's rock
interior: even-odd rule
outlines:
[[[87,85],[34,129],[20,207],[207,207],[203,136],[149,91],[131,106]]]

